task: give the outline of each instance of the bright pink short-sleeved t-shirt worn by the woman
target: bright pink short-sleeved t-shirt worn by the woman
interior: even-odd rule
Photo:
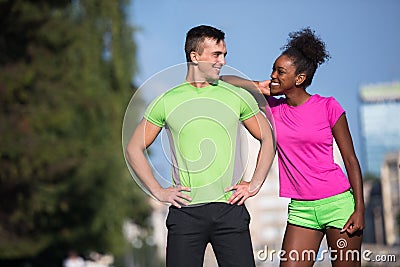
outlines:
[[[342,193],[349,180],[333,159],[332,128],[344,113],[333,97],[312,95],[293,107],[268,98],[278,149],[280,196],[315,200]]]

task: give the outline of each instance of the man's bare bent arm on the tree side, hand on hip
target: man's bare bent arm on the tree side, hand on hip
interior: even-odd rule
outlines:
[[[190,197],[181,191],[190,191],[187,187],[163,188],[155,179],[144,151],[154,142],[162,128],[142,119],[129,140],[126,149],[126,159],[137,177],[145,184],[150,193],[159,201],[171,203],[180,208],[186,206]]]

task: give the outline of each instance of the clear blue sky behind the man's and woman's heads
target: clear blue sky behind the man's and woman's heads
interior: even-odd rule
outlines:
[[[138,29],[137,86],[184,63],[185,34],[194,26],[223,30],[227,65],[255,80],[269,78],[289,32],[311,27],[332,58],[317,70],[308,91],[342,104],[357,153],[359,87],[400,80],[399,0],[132,0],[129,14]]]

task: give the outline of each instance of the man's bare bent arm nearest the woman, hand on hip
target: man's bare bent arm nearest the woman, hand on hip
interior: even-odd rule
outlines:
[[[237,203],[238,205],[242,205],[246,199],[256,195],[260,191],[275,156],[272,129],[261,112],[243,121],[243,124],[251,135],[260,141],[260,151],[251,181],[241,181],[239,184],[227,188],[226,191],[235,190],[228,200],[229,204]]]

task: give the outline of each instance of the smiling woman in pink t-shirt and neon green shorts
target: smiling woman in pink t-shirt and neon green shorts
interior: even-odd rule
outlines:
[[[329,58],[325,43],[305,28],[289,34],[270,81],[221,77],[261,90],[274,117],[280,195],[291,198],[281,266],[312,266],[325,234],[333,266],[360,266],[365,207],[346,115],[333,97],[306,90],[316,69]],[[272,97],[278,95],[285,97]],[[334,163],[333,139],[348,177]]]

